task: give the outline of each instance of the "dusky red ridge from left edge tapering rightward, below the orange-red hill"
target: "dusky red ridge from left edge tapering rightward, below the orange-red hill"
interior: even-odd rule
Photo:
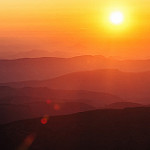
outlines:
[[[10,88],[0,87],[0,104],[25,104],[34,102],[81,102],[94,107],[103,107],[118,101],[120,97],[103,92],[83,90],[53,90],[42,87]]]

